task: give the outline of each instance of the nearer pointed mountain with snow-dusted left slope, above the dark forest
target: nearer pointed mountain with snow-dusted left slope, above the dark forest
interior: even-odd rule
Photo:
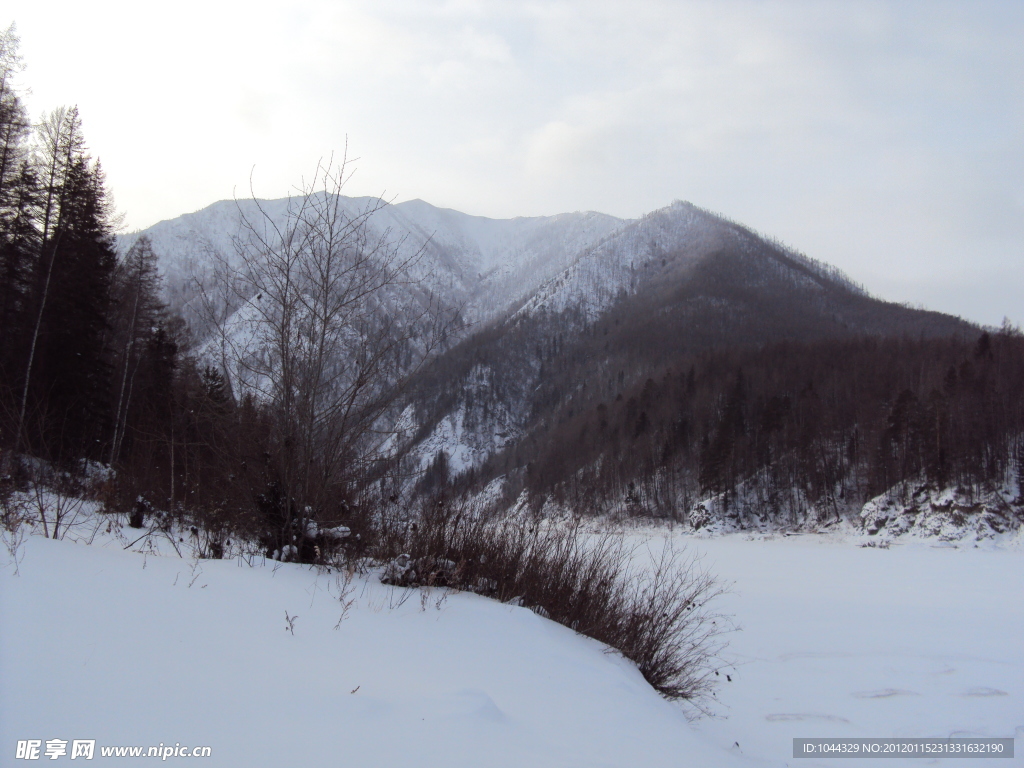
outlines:
[[[543,441],[552,420],[621,396],[682,353],[968,328],[877,300],[838,269],[684,202],[623,222],[535,282],[427,378],[424,391],[442,394],[417,398],[421,434],[429,428],[414,450],[420,469],[440,452],[453,473],[477,467],[530,431]]]

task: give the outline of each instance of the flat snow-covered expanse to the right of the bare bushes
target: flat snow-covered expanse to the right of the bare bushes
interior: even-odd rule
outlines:
[[[975,762],[1024,765],[1019,542],[690,541],[706,567],[734,583],[720,607],[740,626],[728,650],[734,669],[722,670],[731,681],[716,697],[723,717],[697,724],[713,741],[811,768],[857,761],[794,761],[793,738],[1016,737],[1015,760]]]

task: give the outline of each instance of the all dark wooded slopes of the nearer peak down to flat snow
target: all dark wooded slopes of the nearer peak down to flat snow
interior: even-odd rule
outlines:
[[[680,520],[714,499],[756,524],[836,519],[906,482],[1019,483],[1016,329],[882,302],[799,260],[779,270],[756,245],[675,268],[669,254],[669,273],[596,318],[542,310],[440,356],[414,398],[420,436],[457,411],[517,433],[444,493],[502,477],[506,504],[526,490]]]

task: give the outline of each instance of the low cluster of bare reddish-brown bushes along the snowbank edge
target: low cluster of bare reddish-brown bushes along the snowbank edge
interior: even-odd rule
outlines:
[[[639,562],[622,536],[590,534],[579,520],[487,521],[446,504],[383,527],[386,583],[529,607],[616,649],[669,698],[700,709],[711,694],[729,624],[709,605],[723,588],[694,557],[667,548]]]

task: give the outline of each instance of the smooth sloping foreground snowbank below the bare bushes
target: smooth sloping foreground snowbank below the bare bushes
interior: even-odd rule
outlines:
[[[32,537],[4,568],[0,762],[95,738],[210,745],[211,766],[743,763],[529,610],[356,578],[335,630],[337,573],[117,550]]]

